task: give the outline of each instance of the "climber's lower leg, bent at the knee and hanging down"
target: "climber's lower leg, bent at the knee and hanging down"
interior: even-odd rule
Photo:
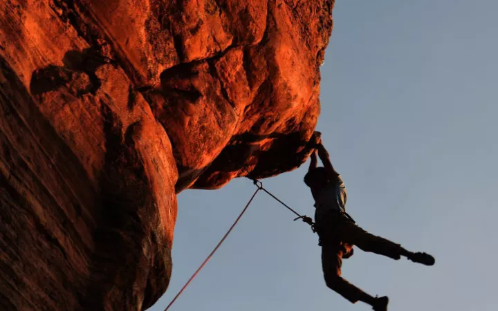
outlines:
[[[375,298],[342,279],[342,252],[342,249],[338,247],[338,243],[324,243],[322,245],[322,269],[327,287],[351,301],[351,303],[363,301],[372,305],[374,310],[387,310],[387,297]]]

